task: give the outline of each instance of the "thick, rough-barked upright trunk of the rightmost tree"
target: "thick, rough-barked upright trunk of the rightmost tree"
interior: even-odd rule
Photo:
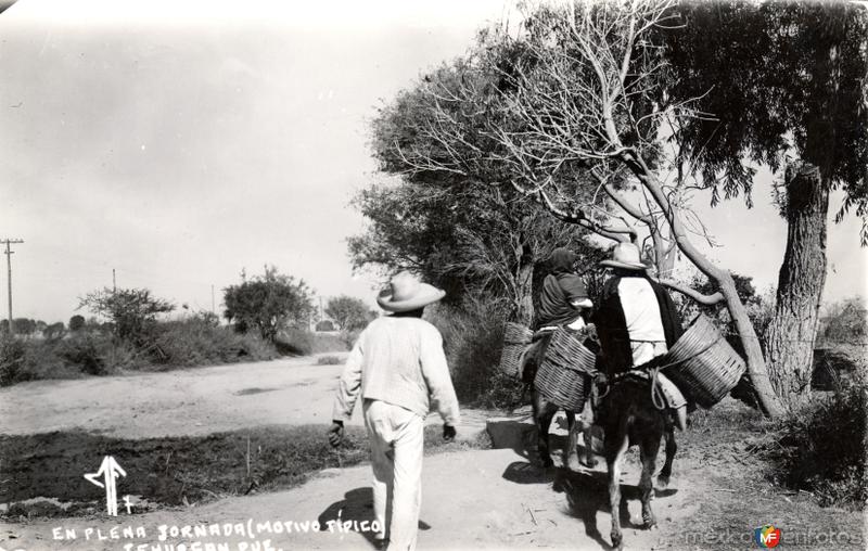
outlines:
[[[775,390],[784,402],[793,403],[810,390],[814,339],[826,283],[829,187],[820,170],[807,163],[787,177],[787,251],[766,351]]]

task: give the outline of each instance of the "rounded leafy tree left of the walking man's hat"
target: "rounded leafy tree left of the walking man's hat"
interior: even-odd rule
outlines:
[[[257,276],[224,290],[224,317],[240,332],[256,329],[263,338],[273,342],[286,325],[306,326],[314,311],[312,293],[303,280],[278,273],[266,267]]]

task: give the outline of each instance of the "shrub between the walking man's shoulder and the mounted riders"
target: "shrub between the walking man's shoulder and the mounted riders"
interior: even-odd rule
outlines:
[[[437,305],[426,317],[443,334],[459,400],[497,408],[511,408],[520,401],[521,382],[498,369],[506,320],[501,308],[468,299],[458,308]]]

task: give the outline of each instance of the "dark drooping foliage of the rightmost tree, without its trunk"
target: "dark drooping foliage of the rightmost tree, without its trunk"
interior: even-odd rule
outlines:
[[[703,183],[751,201],[754,168],[799,159],[842,188],[868,240],[868,10],[855,2],[682,2],[660,34],[668,101],[703,116],[677,130]]]

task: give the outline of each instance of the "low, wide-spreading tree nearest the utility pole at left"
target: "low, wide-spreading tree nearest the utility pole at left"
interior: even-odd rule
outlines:
[[[175,305],[152,296],[146,289],[103,287],[81,298],[79,308],[108,319],[117,337],[144,345],[157,316],[173,311]]]

